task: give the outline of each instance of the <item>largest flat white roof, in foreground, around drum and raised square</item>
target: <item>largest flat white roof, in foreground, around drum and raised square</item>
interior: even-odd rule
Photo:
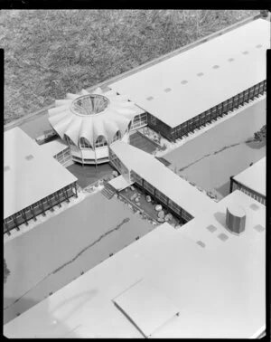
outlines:
[[[224,225],[229,204],[247,213],[239,236]],[[180,309],[152,337],[252,337],[266,324],[265,215],[263,204],[237,190],[179,230],[164,223],[7,323],[5,337],[142,337],[114,305],[139,280]],[[206,229],[211,223],[214,233]]]

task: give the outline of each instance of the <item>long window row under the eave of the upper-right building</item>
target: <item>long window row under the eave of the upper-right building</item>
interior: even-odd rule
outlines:
[[[200,128],[201,126],[205,126],[206,123],[212,121],[213,119],[217,119],[223,115],[229,113],[230,110],[237,109],[239,106],[243,105],[245,102],[249,100],[255,99],[260,94],[263,94],[266,91],[266,81],[262,81],[257,83],[255,86],[249,88],[248,90],[244,90],[243,92],[237,94],[236,96],[230,98],[229,100],[225,100],[220,103],[218,106],[215,106],[211,109],[208,109],[194,117],[176,128],[172,128],[172,137],[182,138],[184,135],[188,135],[189,132],[193,131],[195,128]]]

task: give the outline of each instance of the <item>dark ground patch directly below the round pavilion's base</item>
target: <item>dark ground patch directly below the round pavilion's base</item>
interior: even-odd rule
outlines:
[[[74,176],[78,178],[78,184],[82,188],[98,181],[98,179],[101,179],[104,176],[111,176],[113,171],[113,168],[109,165],[109,163],[100,164],[98,165],[97,169],[96,166],[82,166],[79,163],[74,163],[67,168]]]

